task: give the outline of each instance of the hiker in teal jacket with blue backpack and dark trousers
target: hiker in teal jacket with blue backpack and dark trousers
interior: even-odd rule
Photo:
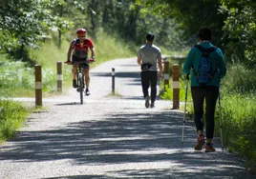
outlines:
[[[205,100],[206,145],[205,152],[213,152],[214,114],[219,97],[221,78],[226,73],[224,54],[211,44],[212,32],[207,27],[199,30],[200,44],[188,53],[183,72],[189,80],[191,72],[191,93],[194,106],[194,122],[198,133],[195,150],[202,150],[205,143],[203,134],[203,103]]]

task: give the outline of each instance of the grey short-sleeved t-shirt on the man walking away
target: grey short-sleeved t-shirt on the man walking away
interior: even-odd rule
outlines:
[[[150,71],[157,71],[158,58],[161,58],[160,48],[154,44],[145,44],[140,47],[138,56],[142,59],[142,64],[150,64]]]

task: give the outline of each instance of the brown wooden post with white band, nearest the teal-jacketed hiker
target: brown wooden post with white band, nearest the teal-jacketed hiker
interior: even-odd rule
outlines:
[[[173,65],[173,109],[180,109],[180,67],[179,64]]]

